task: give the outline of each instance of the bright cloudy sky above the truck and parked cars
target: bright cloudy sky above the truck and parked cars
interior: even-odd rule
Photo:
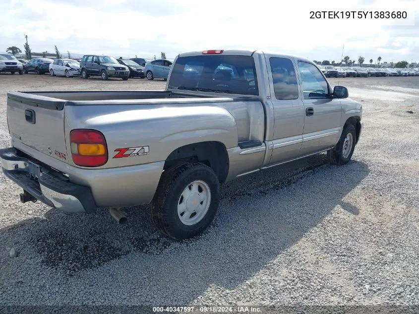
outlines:
[[[321,3],[319,3],[321,2]],[[286,3],[286,4],[285,4]],[[310,19],[310,11],[407,11],[407,19]],[[252,49],[311,60],[419,62],[419,0],[1,0],[0,51],[173,59]],[[356,13],[357,14],[357,13]]]

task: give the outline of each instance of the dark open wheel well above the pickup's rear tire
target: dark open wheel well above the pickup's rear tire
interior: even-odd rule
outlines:
[[[181,146],[167,157],[163,169],[186,162],[200,162],[211,167],[220,183],[227,179],[229,173],[229,156],[226,146],[221,142],[208,141]]]

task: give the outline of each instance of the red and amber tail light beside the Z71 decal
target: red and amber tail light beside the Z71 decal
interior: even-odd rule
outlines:
[[[97,130],[75,129],[70,132],[73,162],[83,167],[99,167],[108,161],[105,136]]]

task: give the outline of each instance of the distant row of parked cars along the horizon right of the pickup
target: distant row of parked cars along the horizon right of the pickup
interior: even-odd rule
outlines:
[[[319,65],[326,77],[417,76],[419,68]]]

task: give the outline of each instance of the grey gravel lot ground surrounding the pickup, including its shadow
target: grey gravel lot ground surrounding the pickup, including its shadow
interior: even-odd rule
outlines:
[[[419,77],[339,83],[363,104],[353,161],[322,154],[225,184],[197,239],[161,237],[149,206],[125,208],[120,226],[106,210],[21,204],[1,173],[0,304],[419,305]],[[0,75],[0,147],[8,90],[164,86]]]

